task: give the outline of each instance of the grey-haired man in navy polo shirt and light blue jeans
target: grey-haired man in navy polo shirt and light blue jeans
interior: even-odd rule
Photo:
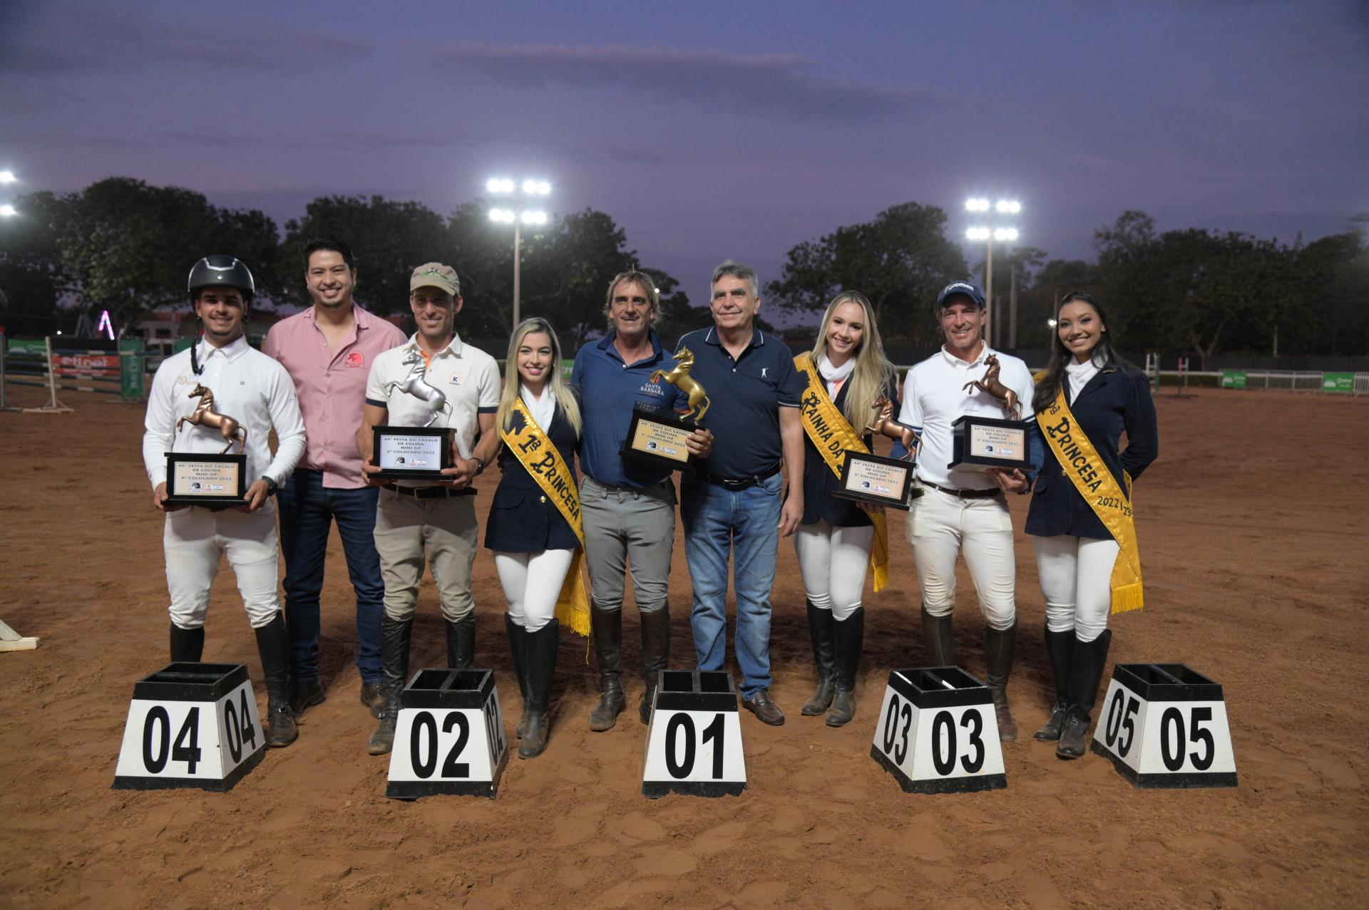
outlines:
[[[784,713],[769,695],[771,587],[779,538],[804,517],[804,428],[794,356],[779,338],[756,328],[761,307],[756,272],[727,260],[713,270],[713,327],[680,338],[694,354],[690,375],[709,394],[704,421],[716,445],[704,472],[682,475],[684,554],[694,586],[694,650],[698,668],[716,671],[727,653],[727,560],[732,551],[737,594],[737,662],[742,703],[764,723]],[[783,497],[780,463],[790,478]],[[783,504],[782,504],[783,498]]]

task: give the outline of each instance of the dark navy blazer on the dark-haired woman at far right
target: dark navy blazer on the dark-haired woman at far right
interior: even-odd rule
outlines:
[[[1065,395],[1069,395],[1069,378]],[[1105,369],[1088,380],[1079,397],[1069,401],[1069,412],[1088,435],[1098,456],[1112,471],[1117,486],[1127,491],[1123,471],[1135,480],[1160,454],[1160,432],[1155,427],[1155,402],[1150,398],[1150,379],[1135,369]],[[1118,453],[1117,442],[1127,431],[1127,450]],[[1069,534],[1080,538],[1106,541],[1112,534],[1094,510],[1088,508],[1073,482],[1066,478],[1050,447],[1040,435],[1040,426],[1031,421],[1031,445],[1045,449],[1045,461],[1032,487],[1031,508],[1027,512],[1027,534],[1055,536]]]

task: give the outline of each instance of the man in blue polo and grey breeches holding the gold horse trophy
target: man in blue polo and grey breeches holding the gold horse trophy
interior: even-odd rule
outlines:
[[[590,625],[602,694],[590,712],[590,729],[611,729],[623,712],[623,575],[631,567],[632,595],[642,619],[642,723],[652,720],[657,675],[671,654],[667,582],[675,542],[675,484],[671,469],[619,454],[632,408],[683,411],[684,394],[652,372],[671,371],[675,359],[661,349],[652,326],[660,316],[656,282],[638,271],[615,275],[605,305],[609,333],[575,354],[571,385],[580,390],[580,517],[590,569]],[[687,445],[706,457],[713,437],[693,432]]]

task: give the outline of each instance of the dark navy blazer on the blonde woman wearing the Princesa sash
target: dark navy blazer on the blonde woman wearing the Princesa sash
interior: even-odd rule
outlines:
[[[513,416],[519,419],[517,415]],[[575,428],[556,406],[550,427],[542,427],[561,454],[571,482],[575,482],[575,447],[579,439]],[[574,550],[580,545],[575,530],[561,517],[556,504],[542,493],[542,487],[527,468],[513,457],[508,446],[500,449],[500,471],[504,476],[494,489],[490,519],[485,523],[485,546],[505,553],[541,553],[542,550]]]

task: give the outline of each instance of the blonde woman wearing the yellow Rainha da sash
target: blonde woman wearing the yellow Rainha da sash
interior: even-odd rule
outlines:
[[[884,397],[898,413],[898,382],[884,357],[875,313],[864,294],[838,294],[823,315],[812,353],[794,359],[804,395],[804,520],[794,550],[808,595],[808,631],[817,664],[817,691],[802,707],[841,727],[856,713],[856,669],[865,638],[861,594],[875,567],[875,590],[888,577],[888,532],[882,506],[832,495],[846,449],[869,452],[865,432]],[[860,430],[857,430],[857,427]],[[883,432],[898,438],[898,424]]]

